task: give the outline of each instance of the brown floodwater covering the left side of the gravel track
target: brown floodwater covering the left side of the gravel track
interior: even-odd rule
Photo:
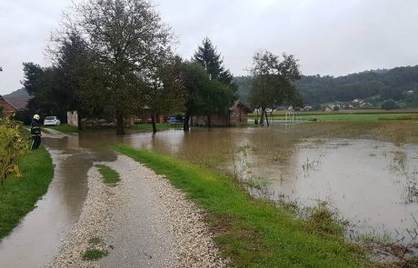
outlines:
[[[94,161],[115,160],[109,150],[89,141],[80,142],[78,136],[43,138],[43,142],[55,164],[54,179],[35,210],[1,241],[0,260],[8,267],[45,267],[50,263],[68,227],[81,213],[88,169]]]

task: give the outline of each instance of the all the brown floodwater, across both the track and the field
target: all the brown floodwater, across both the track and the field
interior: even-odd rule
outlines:
[[[370,133],[300,124],[44,138],[54,180],[37,208],[0,243],[0,267],[43,267],[52,260],[80,214],[87,170],[95,161],[115,159],[105,144],[150,149],[236,174],[260,185],[249,189],[255,196],[306,206],[327,201],[349,220],[349,234],[389,233],[409,243],[407,230],[418,228],[418,146],[383,142]]]

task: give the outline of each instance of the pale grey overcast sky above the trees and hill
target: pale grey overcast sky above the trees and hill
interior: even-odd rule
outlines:
[[[78,2],[75,0],[75,2]],[[296,55],[304,74],[418,65],[418,0],[155,0],[190,58],[205,36],[234,75],[255,51]],[[45,46],[70,0],[0,0],[0,94],[22,87],[22,63]]]

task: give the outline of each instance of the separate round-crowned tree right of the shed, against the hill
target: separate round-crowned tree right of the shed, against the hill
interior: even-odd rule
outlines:
[[[250,91],[250,103],[261,108],[261,124],[264,116],[268,123],[266,108],[274,108],[285,103],[299,105],[302,99],[294,87],[294,81],[301,78],[301,72],[294,55],[278,55],[271,52],[258,52],[254,55],[251,68],[253,79]]]

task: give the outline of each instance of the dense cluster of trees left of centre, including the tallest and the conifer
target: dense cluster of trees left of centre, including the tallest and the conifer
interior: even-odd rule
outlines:
[[[147,109],[156,132],[157,115],[210,118],[237,98],[212,42],[205,38],[191,60],[174,55],[172,30],[151,2],[88,0],[75,4],[62,25],[48,47],[54,64],[24,64],[31,113],[115,118],[116,133],[124,134],[124,120]]]

